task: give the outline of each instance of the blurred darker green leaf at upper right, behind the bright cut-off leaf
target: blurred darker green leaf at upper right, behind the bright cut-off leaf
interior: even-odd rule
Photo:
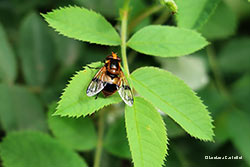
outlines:
[[[201,33],[209,40],[218,40],[232,36],[236,29],[237,18],[235,13],[224,2],[221,2],[201,29]]]

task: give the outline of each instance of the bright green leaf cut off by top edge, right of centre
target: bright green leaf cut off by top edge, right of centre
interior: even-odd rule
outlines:
[[[220,0],[176,0],[178,27],[199,29],[216,9]]]

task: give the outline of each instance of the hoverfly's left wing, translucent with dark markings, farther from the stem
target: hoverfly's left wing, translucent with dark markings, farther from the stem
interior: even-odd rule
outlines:
[[[103,81],[103,78],[105,76],[104,68],[105,67],[102,67],[90,82],[86,92],[87,96],[94,96],[98,94],[107,85],[107,82]]]

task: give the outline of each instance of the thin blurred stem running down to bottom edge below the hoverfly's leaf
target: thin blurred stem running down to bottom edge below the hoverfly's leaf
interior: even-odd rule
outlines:
[[[102,155],[102,145],[103,145],[103,134],[104,134],[104,123],[105,123],[105,110],[102,109],[99,112],[98,120],[98,140],[95,152],[94,167],[100,167],[101,155]]]

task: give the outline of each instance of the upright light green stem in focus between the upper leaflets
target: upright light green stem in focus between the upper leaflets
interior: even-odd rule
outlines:
[[[121,11],[121,52],[122,52],[122,61],[125,75],[129,75],[129,68],[128,68],[128,60],[127,60],[127,26],[128,26],[128,12],[129,12],[129,2],[130,0],[125,0],[123,9]]]

